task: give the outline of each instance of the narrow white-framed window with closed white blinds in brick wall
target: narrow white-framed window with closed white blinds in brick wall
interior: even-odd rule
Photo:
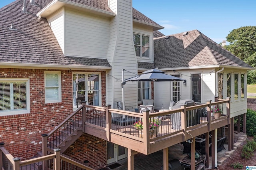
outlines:
[[[61,102],[61,71],[44,71],[45,103]]]

